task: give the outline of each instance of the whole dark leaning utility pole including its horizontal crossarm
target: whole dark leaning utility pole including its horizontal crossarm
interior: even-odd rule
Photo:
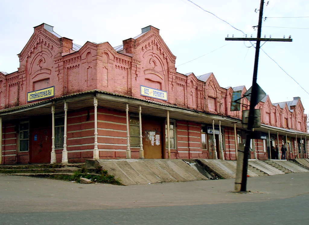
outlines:
[[[248,170],[248,154],[250,152],[250,140],[253,137],[253,123],[254,123],[254,108],[257,102],[257,68],[259,62],[259,53],[260,53],[260,42],[261,41],[292,41],[292,39],[284,38],[261,38],[261,28],[262,28],[262,18],[263,18],[263,6],[264,0],[260,2],[260,15],[259,15],[259,24],[257,26],[257,38],[226,38],[225,40],[251,40],[256,41],[256,51],[255,51],[255,60],[254,60],[254,70],[253,70],[253,79],[252,79],[252,92],[250,100],[250,109],[249,109],[249,118],[248,118],[248,128],[246,131],[246,143],[243,155],[243,173],[241,180],[240,191],[247,191],[247,170]],[[236,144],[236,143],[235,143]]]

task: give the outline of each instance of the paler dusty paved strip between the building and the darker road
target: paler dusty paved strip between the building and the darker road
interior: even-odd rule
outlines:
[[[115,186],[0,175],[0,208],[24,213],[256,202],[309,193],[308,186],[309,173],[248,177],[247,194],[233,193],[234,179]]]

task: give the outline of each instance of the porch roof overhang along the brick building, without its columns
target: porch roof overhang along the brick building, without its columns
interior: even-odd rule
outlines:
[[[220,120],[222,126],[233,127],[235,123],[236,128],[242,129],[241,120],[238,118],[201,112],[176,105],[139,99],[137,97],[100,91],[97,89],[39,101],[32,104],[2,109],[0,110],[0,117],[2,117],[3,122],[7,122],[11,120],[26,120],[29,117],[51,115],[51,106],[53,104],[55,105],[55,115],[60,115],[64,113],[64,102],[68,103],[68,111],[74,112],[93,107],[94,96],[97,97],[98,107],[100,108],[125,111],[126,103],[128,103],[129,113],[133,114],[138,114],[139,106],[141,106],[143,115],[166,117],[166,111],[168,110],[171,119],[192,121],[203,124],[212,124],[212,120],[214,120],[216,126],[218,126]],[[256,130],[267,133],[270,131],[272,134],[277,134],[278,132],[280,135],[287,134],[292,137],[294,137],[295,134],[309,136],[309,133],[264,124],[262,124],[260,128],[256,128]]]

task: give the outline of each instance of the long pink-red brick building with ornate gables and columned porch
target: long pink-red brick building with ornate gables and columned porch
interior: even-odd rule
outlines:
[[[244,142],[241,118],[249,102],[230,108],[232,93],[246,88],[220,87],[213,73],[178,73],[176,56],[152,26],[112,47],[76,45],[43,23],[18,56],[18,71],[0,72],[2,164],[235,160]],[[272,103],[266,96],[256,108],[262,133],[252,140],[252,159],[274,158],[272,146],[282,144],[288,159],[308,157],[299,97]]]

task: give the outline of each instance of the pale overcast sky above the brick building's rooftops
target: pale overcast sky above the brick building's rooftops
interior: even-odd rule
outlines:
[[[192,0],[250,37],[256,37],[260,0]],[[300,97],[309,113],[308,36],[309,1],[265,0],[262,37],[288,38],[293,42],[262,42],[257,83],[272,103]],[[160,29],[177,57],[177,72],[196,76],[212,72],[221,87],[252,85],[255,48],[250,42],[226,41],[243,33],[203,11],[188,0],[88,0],[2,1],[0,14],[0,71],[19,67],[19,54],[33,27],[47,23],[60,36],[84,45],[108,41],[113,47],[133,38],[148,25]],[[304,18],[272,18],[304,17]],[[302,29],[298,29],[302,28]],[[254,44],[254,43],[253,43]],[[250,47],[251,46],[251,47]],[[289,75],[287,75],[289,74]],[[302,89],[298,82],[305,90]]]

